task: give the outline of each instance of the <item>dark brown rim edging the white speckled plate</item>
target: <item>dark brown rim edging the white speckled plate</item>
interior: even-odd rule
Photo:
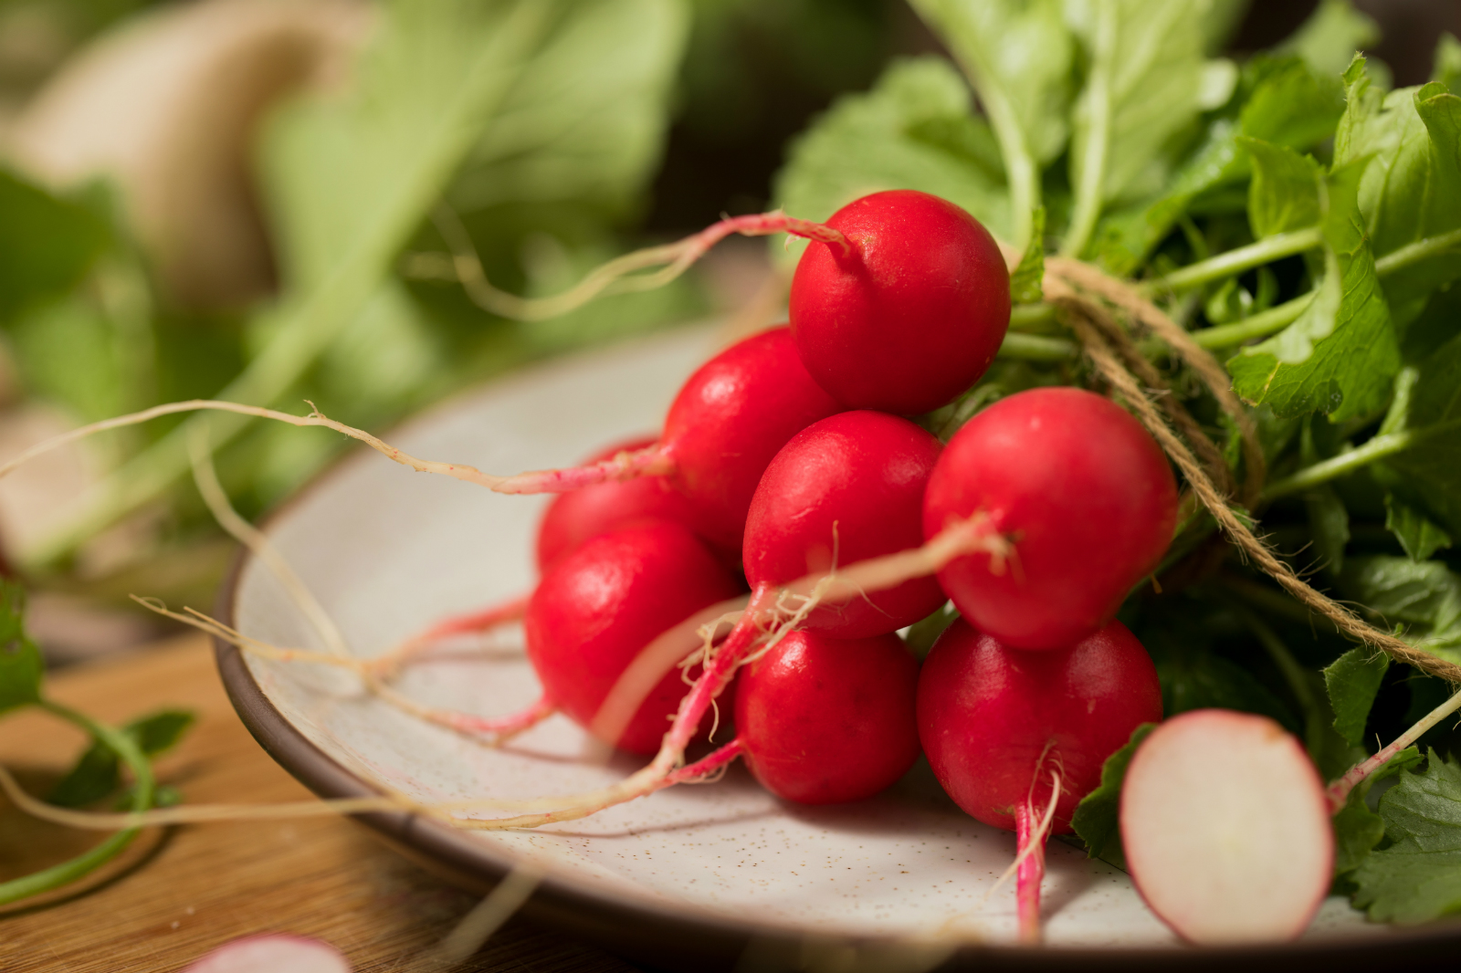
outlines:
[[[630,351],[634,345],[681,335],[685,327],[666,329],[627,340],[609,342],[580,349],[548,361],[516,368],[513,373],[488,378],[447,399],[412,413],[387,430],[386,437],[409,427],[430,425],[441,416],[463,408],[469,400],[514,384],[533,384],[542,375],[587,364],[605,351]],[[259,529],[270,527],[292,514],[307,497],[346,475],[359,462],[370,462],[371,450],[351,447],[332,460],[304,485],[260,517]],[[218,589],[215,617],[232,627],[244,568],[253,552],[237,545],[228,573]],[[229,703],[254,741],[292,777],[320,798],[371,798],[383,792],[343,764],[329,757],[294,726],[254,679],[243,652],[218,636],[213,656]],[[507,856],[470,839],[468,831],[453,828],[435,818],[412,812],[361,812],[349,817],[370,828],[397,853],[416,862],[437,877],[475,893],[485,893],[513,866]],[[744,922],[730,916],[694,909],[675,912],[652,903],[625,904],[603,893],[587,891],[571,881],[546,875],[524,903],[522,913],[543,925],[567,928],[581,938],[637,961],[685,969],[730,969],[745,948],[758,944],[768,950],[767,958],[798,957],[804,935],[787,928]],[[636,932],[638,929],[638,932]],[[646,935],[652,934],[652,935]],[[887,945],[890,936],[837,936],[812,932],[818,939],[853,945]],[[1173,966],[1186,969],[1232,969],[1251,964],[1256,969],[1280,969],[1299,961],[1325,963],[1331,970],[1373,969],[1376,961],[1407,958],[1454,960],[1461,945],[1461,920],[1439,919],[1423,926],[1388,926],[1373,936],[1338,936],[1270,945],[1236,947],[1021,947],[1002,942],[963,944],[945,958],[939,969],[1052,969],[1052,970],[1159,970]]]

